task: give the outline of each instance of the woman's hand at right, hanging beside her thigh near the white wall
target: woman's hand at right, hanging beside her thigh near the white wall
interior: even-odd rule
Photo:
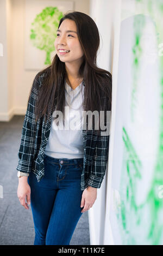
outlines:
[[[96,198],[97,198],[97,188],[93,188],[91,186],[88,186],[87,188],[85,188],[82,194],[82,201],[80,205],[80,207],[84,206],[84,208],[82,209],[81,212],[85,212],[89,210],[95,203]]]

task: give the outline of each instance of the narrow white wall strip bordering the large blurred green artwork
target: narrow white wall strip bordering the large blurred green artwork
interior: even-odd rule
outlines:
[[[111,136],[109,145],[109,163],[108,176],[106,177],[107,189],[105,194],[105,219],[104,219],[104,238],[102,245],[114,245],[112,237],[111,224],[109,221],[110,197],[111,197],[111,178],[112,178],[112,159],[114,153],[114,138],[115,138],[115,115],[116,115],[116,97],[117,97],[117,71],[118,71],[118,55],[120,44],[120,26],[121,26],[121,0],[110,1],[111,18],[111,51],[112,57],[110,61],[112,64],[112,112],[111,112]]]

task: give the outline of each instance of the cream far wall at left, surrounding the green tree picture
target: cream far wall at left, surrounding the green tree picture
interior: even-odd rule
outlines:
[[[39,1],[39,0],[37,0]],[[64,0],[60,0],[64,1]],[[89,14],[89,0],[74,0],[74,10]],[[24,0],[0,1],[0,121],[24,115],[36,72],[24,70]]]

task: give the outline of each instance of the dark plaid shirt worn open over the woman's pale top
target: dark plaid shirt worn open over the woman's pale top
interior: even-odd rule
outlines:
[[[23,121],[21,144],[18,151],[17,170],[21,172],[34,172],[39,182],[44,175],[44,152],[51,131],[52,115],[45,122],[40,118],[35,122],[35,103],[37,93],[46,73],[35,76],[33,89]],[[84,162],[81,175],[81,190],[87,186],[100,188],[103,181],[106,165],[108,163],[109,135],[97,134],[97,130],[82,130]]]

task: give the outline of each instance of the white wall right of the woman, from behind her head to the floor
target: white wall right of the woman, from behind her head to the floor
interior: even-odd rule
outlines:
[[[97,58],[98,67],[108,70],[112,74],[112,111],[111,130],[114,128],[114,114],[116,102],[116,74],[112,73],[113,59],[117,58],[118,33],[120,28],[121,0],[91,0],[90,16],[96,22],[101,36],[101,44]],[[117,63],[115,63],[116,65]],[[110,200],[111,165],[112,165],[112,145],[114,134],[111,132],[109,143],[108,170],[97,191],[97,199],[93,207],[89,210],[90,242],[91,245],[112,244],[112,232],[108,223],[109,209],[106,203]],[[106,220],[106,221],[105,221]]]

